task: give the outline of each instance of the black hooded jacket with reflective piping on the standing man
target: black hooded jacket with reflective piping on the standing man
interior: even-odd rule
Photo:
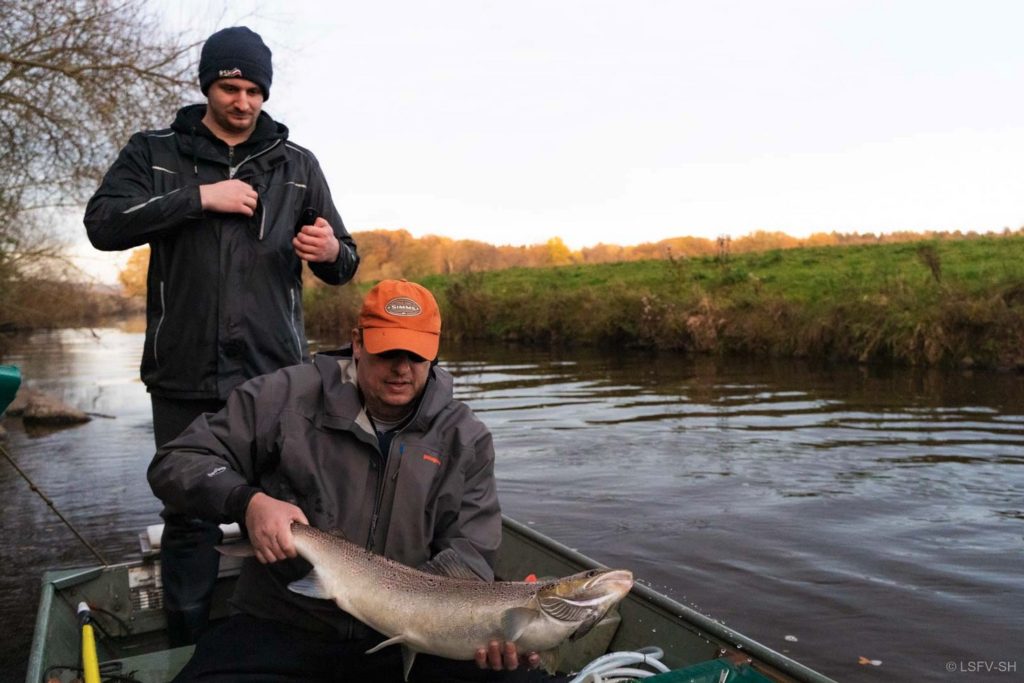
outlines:
[[[308,361],[302,261],[292,238],[311,207],[341,245],[334,263],[310,263],[324,282],[355,273],[355,244],[316,159],[261,113],[245,142],[228,146],[202,124],[204,104],[171,128],[136,133],[89,200],[85,225],[97,249],[151,246],[141,375],[154,394],[217,398],[247,379]],[[206,212],[200,184],[238,178],[259,195],[256,214]]]

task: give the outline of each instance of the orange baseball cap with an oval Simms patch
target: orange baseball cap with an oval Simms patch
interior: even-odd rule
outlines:
[[[406,280],[382,280],[367,293],[359,311],[362,346],[371,353],[401,349],[428,360],[437,357],[441,312],[434,295]]]

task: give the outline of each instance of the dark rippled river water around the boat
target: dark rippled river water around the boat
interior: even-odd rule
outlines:
[[[141,330],[38,333],[2,362],[97,415],[7,449],[110,560],[159,521]],[[327,346],[328,344],[324,344]],[[505,512],[840,681],[1024,678],[1024,377],[444,349]],[[103,417],[105,416],[105,417]],[[0,676],[47,567],[95,562],[0,463]]]

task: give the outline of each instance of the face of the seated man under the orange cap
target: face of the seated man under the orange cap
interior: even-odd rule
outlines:
[[[430,361],[408,351],[370,353],[362,347],[358,330],[352,333],[352,355],[370,415],[382,420],[404,417],[427,385]]]

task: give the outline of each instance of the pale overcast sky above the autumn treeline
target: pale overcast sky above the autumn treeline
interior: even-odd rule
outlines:
[[[1019,1],[153,7],[263,36],[264,111],[350,231],[579,249],[1024,225]]]

